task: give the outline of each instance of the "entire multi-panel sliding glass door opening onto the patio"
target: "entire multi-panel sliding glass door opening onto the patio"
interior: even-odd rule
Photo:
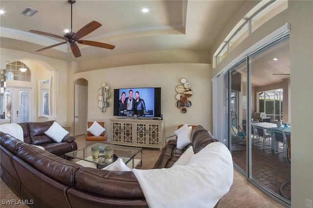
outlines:
[[[221,112],[214,119],[224,123],[214,131],[231,151],[235,169],[268,196],[290,206],[291,186],[285,182],[290,179],[286,131],[290,133],[291,127],[277,127],[278,121],[291,124],[289,35],[281,34],[242,57],[213,85],[223,92],[221,97],[213,94],[217,106],[213,110]],[[279,95],[265,96],[268,92]],[[283,132],[282,141],[275,137],[277,129]]]

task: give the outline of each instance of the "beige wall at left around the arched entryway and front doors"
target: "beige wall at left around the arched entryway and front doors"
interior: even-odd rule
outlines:
[[[67,125],[67,62],[54,58],[44,57],[36,54],[1,48],[0,66],[5,69],[6,61],[12,62],[22,60],[32,72],[31,82],[11,81],[7,86],[29,87],[32,89],[33,108],[31,109],[30,121],[56,120],[61,125]],[[47,79],[52,76],[52,70],[56,70],[56,117],[37,117],[38,113],[38,80]],[[53,81],[52,81],[53,82]]]

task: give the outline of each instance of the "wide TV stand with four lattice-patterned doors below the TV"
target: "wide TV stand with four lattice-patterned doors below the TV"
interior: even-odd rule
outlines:
[[[110,119],[111,143],[134,147],[163,147],[163,120]]]

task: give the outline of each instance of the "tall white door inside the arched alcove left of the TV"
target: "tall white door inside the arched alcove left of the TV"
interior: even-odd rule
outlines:
[[[75,84],[75,136],[87,129],[87,86]]]

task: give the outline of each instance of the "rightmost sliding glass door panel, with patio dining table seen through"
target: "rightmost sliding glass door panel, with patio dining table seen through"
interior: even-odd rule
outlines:
[[[289,57],[289,36],[285,34],[249,56],[250,82],[255,92],[252,98],[256,100],[253,112],[266,115],[259,120],[263,124],[254,125],[257,142],[251,147],[252,169],[249,178],[264,191],[287,203],[291,200],[291,185],[282,186],[291,176],[286,154],[287,128],[278,127],[277,121],[291,123],[291,112],[288,111],[290,95],[284,99],[284,92],[290,91]],[[282,108],[281,103],[285,103],[285,107]],[[284,116],[281,116],[282,112]]]

